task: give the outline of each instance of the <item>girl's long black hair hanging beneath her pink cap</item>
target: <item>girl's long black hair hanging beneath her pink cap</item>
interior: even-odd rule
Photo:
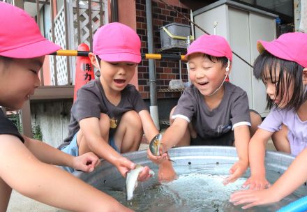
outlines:
[[[266,70],[269,69],[269,75],[266,74]],[[277,76],[276,72],[279,69],[278,81],[276,82]],[[254,71],[253,74],[257,79],[262,79],[262,82],[267,81],[268,79],[271,82],[276,82],[276,93],[275,96],[279,96],[280,100],[289,97],[289,88],[290,84],[293,82],[293,94],[290,101],[285,105],[286,109],[294,109],[297,111],[299,107],[307,100],[307,93],[304,92],[303,84],[303,66],[300,66],[299,63],[294,61],[287,61],[280,59],[273,54],[270,54],[267,51],[262,52],[257,56],[254,62]],[[284,77],[285,76],[285,77]],[[274,103],[274,100],[271,100],[267,95],[267,109],[271,107],[278,107],[280,103]]]

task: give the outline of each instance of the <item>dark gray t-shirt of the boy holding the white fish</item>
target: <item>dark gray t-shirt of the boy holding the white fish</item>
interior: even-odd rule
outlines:
[[[77,91],[77,100],[70,111],[68,137],[64,142],[70,142],[73,139],[75,133],[80,129],[79,121],[82,119],[89,117],[100,119],[100,113],[107,114],[110,117],[110,133],[114,133],[125,112],[135,110],[138,113],[143,109],[147,107],[135,86],[128,84],[121,91],[121,101],[115,106],[107,100],[100,80],[92,80]]]

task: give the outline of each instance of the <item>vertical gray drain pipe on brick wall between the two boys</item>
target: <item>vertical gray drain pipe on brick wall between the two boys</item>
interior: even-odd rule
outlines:
[[[148,53],[153,54],[153,30],[152,30],[151,0],[146,0],[147,44]],[[150,115],[156,128],[160,130],[159,114],[156,96],[156,69],[153,59],[149,59],[149,91],[150,91]]]

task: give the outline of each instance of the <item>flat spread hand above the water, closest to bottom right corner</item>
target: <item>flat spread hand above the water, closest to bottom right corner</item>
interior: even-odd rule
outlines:
[[[235,206],[244,204],[242,209],[248,209],[256,205],[271,204],[281,198],[271,188],[266,190],[240,190],[230,195],[230,202]]]

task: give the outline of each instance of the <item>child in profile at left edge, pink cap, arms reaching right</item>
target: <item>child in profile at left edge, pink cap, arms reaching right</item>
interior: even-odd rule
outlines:
[[[40,34],[38,25],[24,10],[8,3],[0,2],[0,25],[0,105],[21,109],[40,86],[38,73],[45,55],[60,47]],[[12,189],[69,211],[130,211],[54,166],[91,172],[98,163],[93,153],[72,157],[20,135],[0,109],[0,211],[6,211]]]

